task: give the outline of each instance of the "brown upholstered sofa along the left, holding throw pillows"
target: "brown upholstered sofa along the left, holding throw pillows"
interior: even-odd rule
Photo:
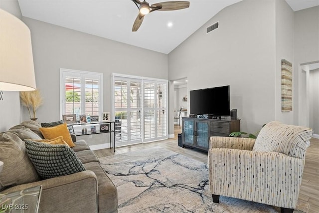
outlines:
[[[25,139],[43,139],[41,125],[25,121],[0,133],[0,194],[42,185],[40,213],[117,212],[118,194],[112,180],[102,169],[99,159],[84,140],[76,140],[71,149],[84,169],[69,175],[43,179],[31,162]],[[63,146],[63,145],[60,145]],[[68,148],[70,149],[70,148]]]

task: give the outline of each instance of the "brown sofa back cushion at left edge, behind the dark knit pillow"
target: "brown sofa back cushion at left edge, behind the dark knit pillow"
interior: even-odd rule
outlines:
[[[0,191],[9,186],[41,180],[25,152],[24,142],[13,132],[4,132],[0,138]]]

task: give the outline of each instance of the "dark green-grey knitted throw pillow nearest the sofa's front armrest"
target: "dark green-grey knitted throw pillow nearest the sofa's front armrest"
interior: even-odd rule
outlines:
[[[27,154],[43,179],[85,171],[75,152],[66,145],[24,140]]]

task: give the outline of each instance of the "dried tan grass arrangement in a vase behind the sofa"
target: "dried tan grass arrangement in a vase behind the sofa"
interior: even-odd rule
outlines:
[[[32,121],[36,121],[35,117],[36,110],[43,104],[43,99],[39,90],[20,92],[20,101],[23,106],[25,106],[30,115]],[[33,112],[33,117],[31,115],[31,110]]]

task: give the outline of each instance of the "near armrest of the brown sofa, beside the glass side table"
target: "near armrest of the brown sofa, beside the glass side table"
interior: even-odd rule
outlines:
[[[98,212],[98,182],[94,172],[83,172],[11,187],[9,193],[42,185],[39,212]]]

